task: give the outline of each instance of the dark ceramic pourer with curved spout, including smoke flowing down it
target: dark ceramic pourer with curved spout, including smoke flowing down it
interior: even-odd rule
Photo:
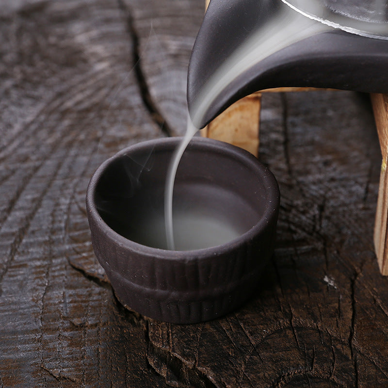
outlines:
[[[211,0],[188,72],[194,125],[267,88],[388,92],[387,1],[380,1],[374,10],[362,0]]]

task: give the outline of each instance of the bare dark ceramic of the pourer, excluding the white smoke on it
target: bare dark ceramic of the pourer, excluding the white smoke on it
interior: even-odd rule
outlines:
[[[252,31],[260,30],[288,7],[285,3],[323,2],[327,15],[318,19],[350,22],[370,29],[350,33],[332,28],[292,43],[251,65],[218,93],[194,124],[204,127],[238,99],[274,87],[318,87],[360,92],[388,92],[387,5],[373,14],[372,3],[363,0],[211,0],[198,32],[189,65],[187,98],[189,111],[198,104],[201,90]],[[303,6],[301,6],[303,12]],[[331,13],[331,14],[330,14]],[[331,16],[330,16],[331,15]],[[376,18],[376,20],[373,19]],[[356,24],[354,22],[356,21]],[[319,23],[319,22],[317,22]],[[332,24],[333,24],[332,23]],[[353,27],[353,24],[356,27]],[[285,23],[286,25],[287,23]],[[338,24],[338,23],[337,23]],[[279,25],[281,30],[285,25]],[[376,31],[375,32],[375,28]],[[362,29],[362,28],[361,28]],[[360,36],[381,35],[379,38]],[[374,36],[374,35],[373,35]]]

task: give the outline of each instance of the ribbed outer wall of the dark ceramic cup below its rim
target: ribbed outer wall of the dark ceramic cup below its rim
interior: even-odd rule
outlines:
[[[139,254],[107,237],[89,219],[92,243],[118,298],[156,320],[197,323],[241,306],[259,285],[274,249],[277,213],[251,242],[211,257],[166,259]],[[166,251],[168,252],[168,251]],[[200,252],[200,251],[198,251]]]

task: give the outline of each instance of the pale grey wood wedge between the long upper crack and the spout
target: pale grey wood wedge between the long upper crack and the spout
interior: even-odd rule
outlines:
[[[187,127],[187,67],[204,4],[199,0],[122,0],[133,21],[147,89],[170,135]]]

